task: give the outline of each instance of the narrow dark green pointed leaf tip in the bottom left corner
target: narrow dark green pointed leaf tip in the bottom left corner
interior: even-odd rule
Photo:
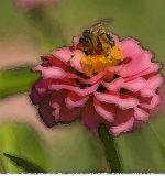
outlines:
[[[15,165],[22,167],[28,173],[46,173],[43,168],[41,168],[40,166],[30,161],[26,161],[24,158],[8,153],[3,153],[3,155],[10,158]]]

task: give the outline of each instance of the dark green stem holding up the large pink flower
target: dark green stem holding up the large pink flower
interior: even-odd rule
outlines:
[[[106,156],[110,164],[111,173],[121,173],[121,162],[116,146],[116,141],[105,125],[99,129],[99,136],[105,145]]]

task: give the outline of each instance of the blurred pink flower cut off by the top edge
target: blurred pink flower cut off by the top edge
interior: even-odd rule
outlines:
[[[23,9],[35,9],[44,6],[55,6],[59,0],[15,0],[18,7]]]

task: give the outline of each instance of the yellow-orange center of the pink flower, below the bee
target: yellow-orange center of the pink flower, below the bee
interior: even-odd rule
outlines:
[[[111,52],[106,56],[101,55],[88,55],[81,61],[85,72],[88,76],[97,74],[103,70],[108,66],[114,66],[123,61],[123,56],[119,46],[113,46]]]

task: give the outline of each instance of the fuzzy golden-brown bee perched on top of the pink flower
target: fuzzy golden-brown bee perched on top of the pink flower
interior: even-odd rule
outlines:
[[[114,45],[113,37],[106,30],[106,24],[112,22],[112,19],[103,19],[94,24],[91,29],[84,30],[79,40],[80,48],[87,54],[108,54]]]

